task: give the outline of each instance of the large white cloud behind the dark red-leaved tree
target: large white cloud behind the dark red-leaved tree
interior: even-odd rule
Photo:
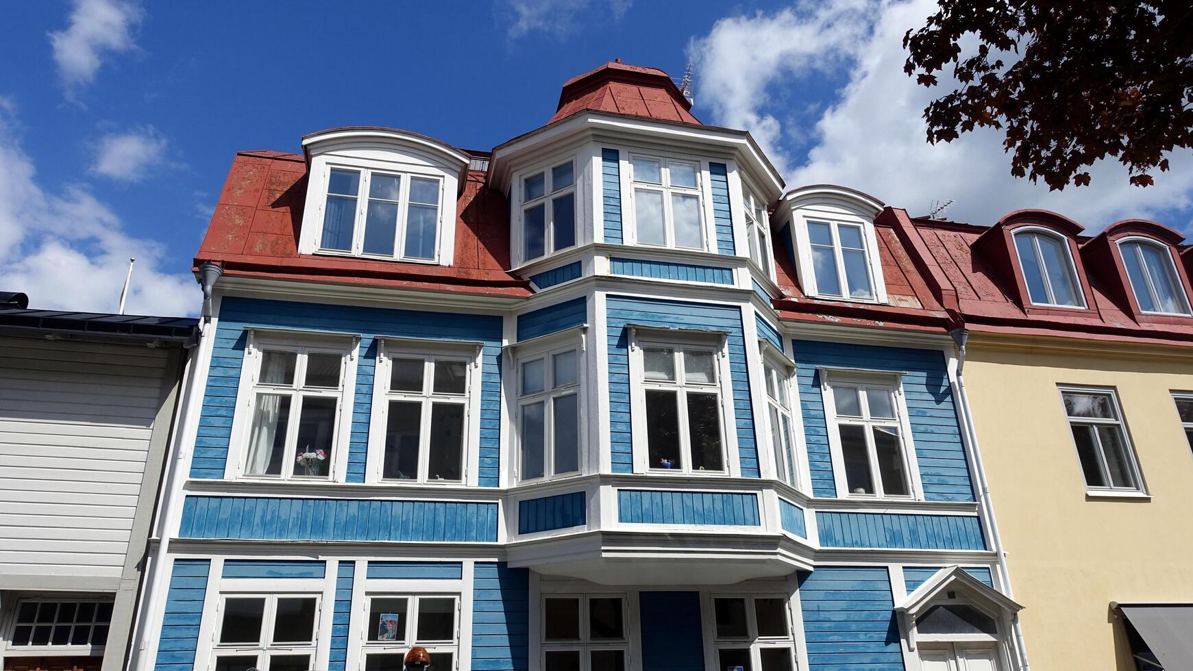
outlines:
[[[877,1],[861,8],[836,0],[816,10],[797,5],[774,14],[722,19],[690,49],[701,63],[697,101],[712,110],[716,123],[755,133],[772,160],[778,157],[789,187],[851,186],[911,215],[927,213],[933,200],[953,199],[950,218],[978,224],[1021,207],[1045,207],[1089,230],[1126,217],[1186,211],[1181,220],[1164,222],[1186,228],[1193,205],[1193,157],[1187,154],[1174,155],[1173,169],[1156,175],[1152,187],[1130,186],[1125,170],[1112,161],[1090,169],[1090,186],[1049,192],[1043,184],[1010,176],[1010,159],[995,131],[928,144],[923,107],[951,82],[926,89],[908,77],[902,38],[935,8],[933,0]],[[852,42],[840,42],[851,36]],[[753,54],[767,44],[781,46],[783,41],[811,46],[789,46],[773,58]],[[848,83],[826,101],[812,129],[785,128],[768,101],[799,77],[823,70],[817,58],[822,54],[830,63],[846,64]],[[790,137],[809,131],[806,156],[792,156],[786,149]]]

